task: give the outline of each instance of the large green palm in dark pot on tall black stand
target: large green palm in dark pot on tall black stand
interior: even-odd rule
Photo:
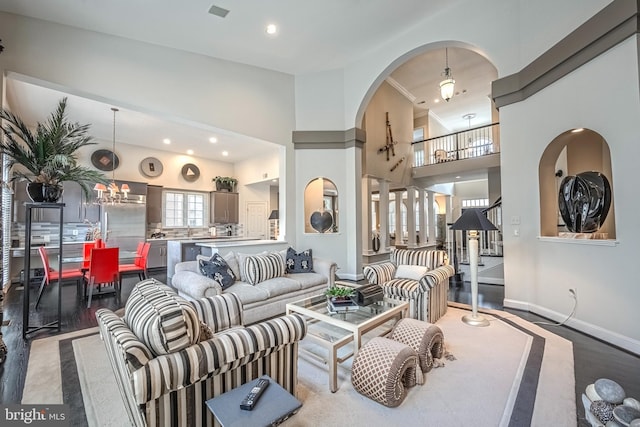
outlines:
[[[34,202],[57,202],[64,181],[80,184],[87,197],[95,183],[108,182],[101,172],[78,164],[78,150],[95,143],[88,134],[90,125],[70,122],[66,108],[67,98],[63,98],[35,129],[11,111],[0,110],[4,135],[0,153],[7,156],[7,167],[12,169],[10,181],[28,181],[27,191]]]

